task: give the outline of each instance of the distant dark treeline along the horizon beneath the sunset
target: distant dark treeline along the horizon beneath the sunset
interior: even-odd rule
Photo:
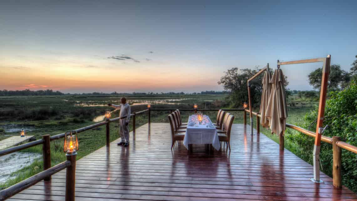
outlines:
[[[29,89],[26,90],[16,90],[16,91],[11,91],[11,90],[0,90],[0,96],[63,96],[63,95],[212,95],[212,94],[229,94],[227,91],[201,91],[201,92],[193,92],[193,93],[184,93],[184,92],[161,92],[161,93],[154,93],[154,92],[132,92],[130,93],[117,93],[112,92],[112,93],[103,93],[103,92],[92,92],[92,93],[82,93],[82,94],[70,94],[70,93],[62,93],[60,91],[53,91],[51,89],[47,90],[37,90],[37,91],[31,91]]]

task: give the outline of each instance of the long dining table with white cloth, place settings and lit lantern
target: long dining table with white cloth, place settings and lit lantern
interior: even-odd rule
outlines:
[[[202,115],[201,119],[197,114],[188,117],[183,145],[189,150],[189,145],[192,144],[211,144],[214,149],[220,150],[217,129],[212,125],[212,121],[207,115]]]

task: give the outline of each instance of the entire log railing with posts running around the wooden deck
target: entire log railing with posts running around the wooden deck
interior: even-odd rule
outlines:
[[[136,128],[136,115],[144,114],[147,112],[148,115],[148,123],[150,124],[151,122],[151,111],[170,111],[173,112],[174,108],[169,108],[169,109],[159,109],[159,108],[149,108],[146,110],[142,110],[139,112],[133,112],[130,114],[132,117],[132,123],[133,123],[133,132],[135,133],[135,128]],[[195,113],[197,111],[218,111],[219,109],[180,109],[181,111],[194,111]],[[225,111],[243,111],[243,123],[246,125],[247,124],[247,112],[250,112],[249,110],[246,109],[225,109]],[[257,132],[260,132],[260,117],[261,115],[257,112],[252,112],[253,115],[257,117]],[[118,121],[120,118],[116,117],[113,119],[105,120],[98,122],[96,124],[92,124],[89,126],[82,127],[80,129],[74,130],[74,132],[80,133],[84,132],[87,130],[94,129],[99,126],[106,125],[106,146],[110,146],[110,122],[113,121]],[[315,133],[308,131],[306,129],[303,129],[301,127],[292,125],[292,124],[286,124],[288,128],[294,129],[296,131],[302,132],[303,134],[306,134],[311,137],[315,137]],[[4,150],[0,150],[0,156],[4,156],[6,154],[10,154],[15,151],[20,151],[27,149],[29,147],[33,147],[36,145],[41,145],[42,144],[42,150],[43,150],[43,161],[44,161],[44,171],[40,172],[37,175],[34,175],[24,181],[21,181],[15,185],[12,185],[8,187],[7,189],[4,189],[0,191],[0,201],[6,200],[7,198],[15,195],[16,193],[36,184],[37,182],[44,180],[44,181],[50,181],[51,180],[51,175],[55,174],[56,172],[59,172],[63,169],[67,169],[66,171],[66,201],[74,201],[75,198],[75,166],[76,166],[76,159],[75,155],[74,156],[67,156],[67,161],[64,161],[54,167],[51,167],[51,152],[50,152],[50,141],[53,140],[58,140],[65,137],[65,133],[61,133],[58,135],[50,136],[50,135],[43,135],[42,139],[28,142],[26,144],[10,147]],[[283,137],[280,139],[280,146],[283,146]],[[341,188],[342,187],[342,179],[341,179],[341,148],[346,149],[348,151],[354,152],[357,154],[357,147],[352,146],[346,142],[343,142],[340,140],[340,137],[334,136],[333,138],[327,137],[327,136],[322,136],[321,140],[323,142],[327,142],[329,144],[333,145],[333,185]]]

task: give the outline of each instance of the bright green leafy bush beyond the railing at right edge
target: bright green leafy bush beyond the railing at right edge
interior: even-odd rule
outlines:
[[[357,83],[352,81],[343,91],[330,92],[326,101],[324,126],[328,125],[323,135],[339,136],[342,141],[357,146]],[[301,127],[315,131],[317,107],[304,117]],[[300,146],[296,154],[312,164],[314,139],[304,134],[287,132],[286,137]],[[321,163],[323,172],[332,176],[332,145],[321,143]],[[357,192],[357,154],[342,149],[342,184]]]

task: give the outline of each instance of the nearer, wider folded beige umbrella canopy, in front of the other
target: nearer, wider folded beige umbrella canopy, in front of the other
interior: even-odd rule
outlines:
[[[281,69],[277,69],[270,79],[271,93],[265,110],[265,117],[269,120],[270,130],[277,135],[283,134],[286,129],[288,117],[284,88],[284,75]]]

